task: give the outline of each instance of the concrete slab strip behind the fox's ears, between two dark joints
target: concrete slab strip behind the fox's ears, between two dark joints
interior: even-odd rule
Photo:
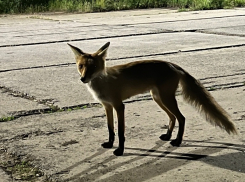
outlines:
[[[142,35],[134,36],[134,38],[119,37],[70,43],[85,52],[95,52],[107,41],[111,42],[108,52],[109,59],[125,57],[141,57],[139,59],[145,59],[144,55],[245,45],[245,37],[192,32]],[[73,53],[66,43],[5,47],[1,48],[0,56],[2,57],[0,60],[0,71],[75,63]]]

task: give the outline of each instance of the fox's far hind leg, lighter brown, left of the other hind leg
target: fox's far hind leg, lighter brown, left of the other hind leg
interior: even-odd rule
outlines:
[[[168,131],[166,134],[162,134],[159,138],[161,140],[164,140],[164,141],[168,141],[171,139],[171,136],[172,136],[172,132],[173,132],[173,129],[174,129],[174,126],[175,126],[175,121],[176,121],[176,118],[175,116],[169,112],[169,110],[163,105],[161,99],[160,99],[160,95],[158,93],[158,91],[156,89],[152,89],[151,90],[151,95],[152,95],[152,98],[153,100],[167,113],[168,117],[169,117],[169,125],[168,125]]]

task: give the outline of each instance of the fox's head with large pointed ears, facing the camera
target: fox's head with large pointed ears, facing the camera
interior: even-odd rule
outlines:
[[[88,54],[68,44],[75,54],[78,73],[83,83],[88,83],[105,70],[105,58],[110,42],[103,45],[97,52]]]

